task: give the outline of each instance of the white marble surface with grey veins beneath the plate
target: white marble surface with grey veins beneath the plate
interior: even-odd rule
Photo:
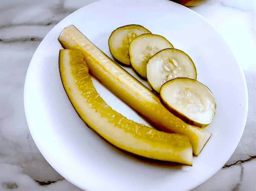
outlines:
[[[47,32],[68,14],[94,1],[0,1],[1,191],[80,190],[59,175],[37,149],[24,115],[23,88],[30,59]],[[256,0],[210,0],[192,9],[208,19],[230,45],[245,71],[249,91],[248,119],[235,153],[194,190],[255,191]]]

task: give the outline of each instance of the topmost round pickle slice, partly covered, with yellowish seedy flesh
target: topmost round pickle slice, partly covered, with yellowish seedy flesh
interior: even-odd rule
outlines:
[[[119,64],[130,66],[128,48],[130,42],[139,35],[151,33],[141,25],[125,25],[115,29],[109,37],[109,50]]]

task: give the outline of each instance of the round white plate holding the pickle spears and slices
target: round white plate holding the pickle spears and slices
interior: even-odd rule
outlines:
[[[184,171],[182,166],[140,161],[113,148],[86,127],[66,96],[58,70],[62,46],[57,38],[70,24],[109,56],[110,33],[127,24],[143,25],[190,55],[198,80],[211,89],[217,101],[214,121],[206,128],[212,137],[193,158],[193,167]],[[94,84],[113,109],[147,124],[96,80]],[[188,190],[206,181],[232,155],[245,127],[248,93],[244,73],[227,44],[199,14],[167,0],[104,0],[70,14],[46,35],[29,65],[24,105],[29,129],[41,153],[80,188]]]

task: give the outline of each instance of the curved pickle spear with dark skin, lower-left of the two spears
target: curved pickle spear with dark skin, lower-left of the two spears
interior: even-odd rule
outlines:
[[[109,143],[146,158],[192,165],[188,137],[136,123],[107,105],[92,84],[81,51],[60,50],[59,68],[66,94],[78,115]]]

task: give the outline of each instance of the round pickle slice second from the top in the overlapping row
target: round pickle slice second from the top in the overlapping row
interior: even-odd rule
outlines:
[[[172,44],[166,38],[154,34],[140,35],[131,41],[129,46],[131,67],[145,80],[148,60],[154,54],[165,48],[173,48]]]

